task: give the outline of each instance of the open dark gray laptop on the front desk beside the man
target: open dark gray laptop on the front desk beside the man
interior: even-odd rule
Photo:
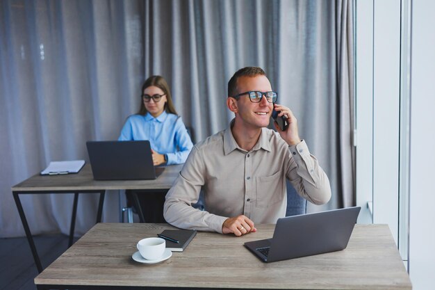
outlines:
[[[265,262],[343,250],[347,247],[361,207],[279,218],[272,239],[245,247]]]

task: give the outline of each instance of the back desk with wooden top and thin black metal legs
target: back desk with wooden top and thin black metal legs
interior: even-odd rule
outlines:
[[[104,195],[106,190],[132,190],[132,191],[161,191],[167,192],[174,180],[179,175],[183,165],[165,166],[163,173],[154,180],[95,180],[92,175],[90,164],[86,164],[79,173],[70,175],[33,175],[24,182],[21,182],[12,187],[15,204],[21,218],[24,232],[26,232],[27,240],[32,250],[33,259],[39,273],[42,272],[42,265],[38,256],[38,252],[33,243],[32,234],[26,220],[26,215],[19,200],[21,194],[47,194],[47,193],[74,193],[74,204],[72,209],[71,226],[69,229],[69,245],[72,245],[74,236],[74,227],[76,220],[77,202],[79,193],[99,193],[99,207],[97,211],[97,223],[101,222],[101,213],[103,210]],[[137,197],[135,195],[137,200]]]

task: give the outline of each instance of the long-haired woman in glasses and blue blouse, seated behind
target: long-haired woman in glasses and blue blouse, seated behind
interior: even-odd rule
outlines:
[[[142,86],[140,110],[127,118],[118,140],[149,140],[154,166],[184,163],[193,144],[181,117],[177,115],[169,86],[162,76],[150,76]],[[133,198],[127,192],[127,204]],[[146,223],[162,223],[165,196],[138,195]]]

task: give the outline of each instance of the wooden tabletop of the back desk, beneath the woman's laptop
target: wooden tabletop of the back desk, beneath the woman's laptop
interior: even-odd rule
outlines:
[[[165,166],[165,170],[156,179],[150,180],[95,180],[90,164],[85,164],[77,174],[33,175],[24,182],[12,187],[12,191],[96,191],[118,189],[162,189],[171,188],[183,166]]]

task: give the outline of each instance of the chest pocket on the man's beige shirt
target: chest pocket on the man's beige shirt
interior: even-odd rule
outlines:
[[[256,207],[267,208],[281,202],[286,194],[282,173],[256,177]]]

